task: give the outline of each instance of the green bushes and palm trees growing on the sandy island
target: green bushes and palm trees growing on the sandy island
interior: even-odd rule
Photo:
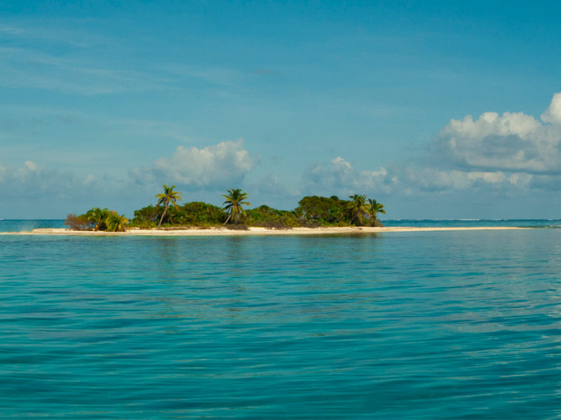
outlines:
[[[156,205],[150,204],[135,210],[130,223],[116,211],[94,207],[76,216],[69,214],[66,225],[73,230],[108,230],[122,232],[130,228],[212,228],[227,226],[229,229],[245,230],[248,226],[268,229],[292,229],[297,227],[318,228],[320,226],[369,225],[381,226],[378,214],[385,214],[384,204],[365,195],[351,195],[350,200],[342,200],[333,195],[321,197],[309,195],[298,202],[294,210],[278,210],[262,205],[255,209],[250,206],[248,194],[241,188],[232,188],[223,195],[224,207],[205,202],[188,202],[180,206],[181,194],[175,186],[163,186],[163,193],[156,195]],[[171,204],[171,205],[170,205]]]

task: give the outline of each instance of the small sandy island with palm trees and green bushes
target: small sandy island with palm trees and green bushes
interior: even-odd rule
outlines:
[[[224,236],[224,235],[332,235],[376,234],[380,232],[426,232],[441,230],[523,229],[506,226],[411,227],[384,226],[378,218],[384,204],[366,195],[354,194],[349,200],[337,196],[309,195],[293,210],[266,205],[253,209],[248,194],[232,188],[224,194],[222,207],[205,202],[180,205],[181,193],[175,186],[163,186],[156,204],[135,210],[129,221],[107,208],[93,207],[84,214],[69,214],[68,228],[39,228],[31,232],[0,232],[0,235],[142,235],[142,236]]]

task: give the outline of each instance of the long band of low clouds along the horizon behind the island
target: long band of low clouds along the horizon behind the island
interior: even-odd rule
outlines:
[[[427,145],[426,153],[409,162],[358,168],[348,157],[337,156],[304,169],[295,185],[287,185],[272,173],[247,182],[254,168],[255,159],[245,150],[243,139],[204,148],[179,146],[170,156],[155,157],[151,167],[130,169],[121,181],[92,174],[75,176],[31,161],[20,167],[0,162],[0,193],[4,209],[19,207],[15,213],[29,217],[43,217],[41,209],[25,213],[34,205],[30,203],[41,200],[53,208],[56,203],[64,211],[83,203],[104,205],[107,200],[137,208],[152,200],[163,183],[196,192],[198,200],[239,186],[248,190],[254,204],[285,208],[304,195],[360,193],[384,200],[390,204],[388,209],[391,202],[396,208],[401,205],[405,210],[399,216],[394,213],[396,217],[417,216],[412,207],[425,204],[437,206],[433,213],[447,207],[441,216],[468,217],[474,211],[486,217],[523,216],[522,210],[509,211],[527,203],[536,203],[531,211],[538,217],[540,212],[546,214],[546,207],[553,213],[560,201],[555,194],[561,190],[561,93],[553,96],[539,119],[522,112],[452,119]],[[442,206],[434,204],[438,202]],[[468,209],[468,205],[473,207]],[[462,209],[469,215],[461,214]]]

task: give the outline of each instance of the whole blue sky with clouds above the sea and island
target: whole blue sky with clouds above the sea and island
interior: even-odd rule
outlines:
[[[0,218],[184,201],[561,217],[552,2],[0,3]]]

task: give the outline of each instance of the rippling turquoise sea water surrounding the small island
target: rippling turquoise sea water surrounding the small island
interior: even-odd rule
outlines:
[[[560,327],[560,229],[0,235],[1,419],[560,419]]]

